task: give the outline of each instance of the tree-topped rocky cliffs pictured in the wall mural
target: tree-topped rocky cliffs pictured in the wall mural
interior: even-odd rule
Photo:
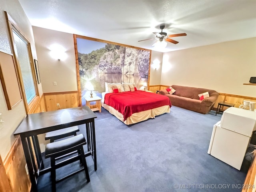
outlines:
[[[80,74],[86,72],[120,73],[148,78],[150,52],[130,47],[106,44],[89,54],[78,54]]]

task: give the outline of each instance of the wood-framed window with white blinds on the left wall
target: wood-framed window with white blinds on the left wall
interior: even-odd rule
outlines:
[[[26,113],[29,114],[40,100],[30,42],[6,11],[5,15],[22,98]]]

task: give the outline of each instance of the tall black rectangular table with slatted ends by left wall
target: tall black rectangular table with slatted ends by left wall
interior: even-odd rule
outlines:
[[[94,118],[97,118],[94,112],[92,112],[88,106],[83,106],[28,114],[26,118],[22,120],[21,124],[14,132],[14,135],[20,135],[22,141],[30,181],[32,184],[31,191],[37,191],[36,182],[40,173],[50,171],[50,168],[44,168],[42,162],[41,150],[37,137],[38,134],[85,124],[88,147],[88,152],[85,153],[85,155],[92,156],[92,159],[94,160],[94,170],[97,170]],[[34,158],[33,152],[36,159]],[[38,169],[36,167],[36,163]],[[44,169],[42,170],[42,168]]]

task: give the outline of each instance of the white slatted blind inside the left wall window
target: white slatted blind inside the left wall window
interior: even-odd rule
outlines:
[[[22,74],[26,100],[27,103],[30,104],[30,102],[36,96],[36,89],[31,70],[30,58],[28,54],[28,43],[24,41],[14,30],[13,36],[18,54],[18,61],[20,64],[20,71]]]

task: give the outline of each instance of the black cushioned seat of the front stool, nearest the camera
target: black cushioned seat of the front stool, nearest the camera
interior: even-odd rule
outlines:
[[[66,138],[64,140],[56,141],[46,144],[45,158],[58,157],[62,154],[66,154],[66,150],[72,151],[72,148],[76,150],[77,146],[85,145],[86,140],[83,134],[76,135],[74,137]]]

